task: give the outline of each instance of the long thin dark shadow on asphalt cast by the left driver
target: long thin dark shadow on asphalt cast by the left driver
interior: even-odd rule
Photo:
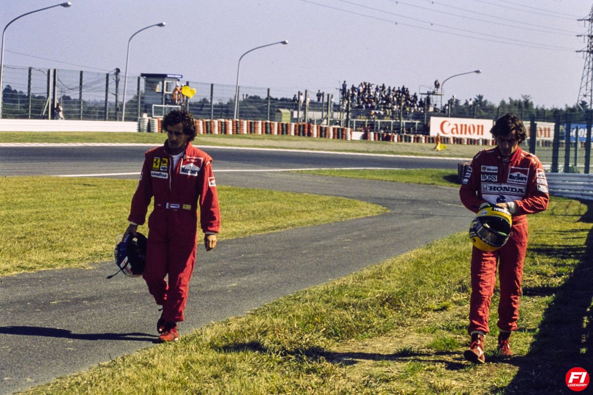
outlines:
[[[48,328],[42,326],[0,326],[0,334],[17,336],[63,337],[78,340],[135,340],[152,342],[157,336],[148,333],[72,333],[67,329]]]

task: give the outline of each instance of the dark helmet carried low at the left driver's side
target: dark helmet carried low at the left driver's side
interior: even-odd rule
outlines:
[[[145,235],[141,232],[136,232],[136,236],[131,233],[127,234],[123,241],[116,244],[114,256],[115,264],[119,267],[117,273],[123,272],[128,277],[141,276],[144,272],[144,265],[146,265]],[[117,273],[107,278],[111,278]]]

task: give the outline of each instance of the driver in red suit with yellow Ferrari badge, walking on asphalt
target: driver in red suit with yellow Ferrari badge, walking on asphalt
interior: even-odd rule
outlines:
[[[197,209],[207,251],[216,246],[221,216],[212,158],[191,144],[196,135],[193,117],[174,110],[162,120],[162,129],[167,131],[167,141],[145,153],[125,235],[135,234],[138,225],[144,224],[154,197],[142,277],[154,300],[162,305],[157,321],[159,340],[170,342],[177,340],[177,323],[184,320],[196,260]]]

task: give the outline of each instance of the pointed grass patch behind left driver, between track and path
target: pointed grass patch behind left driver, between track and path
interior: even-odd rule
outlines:
[[[98,178],[0,178],[0,275],[88,267],[113,259],[137,184]],[[305,193],[227,186],[218,192],[221,240],[385,211],[357,200]],[[145,226],[139,231],[148,234]]]

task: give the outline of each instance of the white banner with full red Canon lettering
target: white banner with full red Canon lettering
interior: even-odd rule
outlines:
[[[431,117],[431,136],[490,139],[492,119]]]

